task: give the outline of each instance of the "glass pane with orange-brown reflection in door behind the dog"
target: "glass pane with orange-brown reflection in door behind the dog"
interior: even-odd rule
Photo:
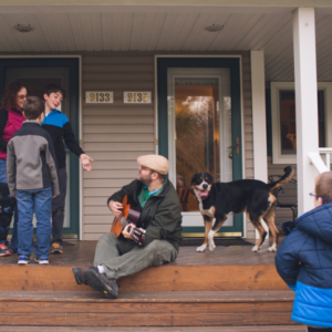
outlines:
[[[218,80],[175,80],[176,187],[183,211],[198,211],[190,191],[195,173],[220,180]]]

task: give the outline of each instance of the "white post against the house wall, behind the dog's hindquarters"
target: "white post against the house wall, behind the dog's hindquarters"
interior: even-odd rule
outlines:
[[[266,120],[266,74],[263,51],[251,51],[251,97],[253,133],[253,176],[268,180],[267,120]],[[268,231],[268,226],[263,227]],[[259,234],[256,230],[256,238]]]

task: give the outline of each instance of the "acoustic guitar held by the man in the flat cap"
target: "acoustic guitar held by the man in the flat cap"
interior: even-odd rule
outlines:
[[[137,225],[137,221],[141,217],[141,210],[136,206],[133,197],[125,195],[122,199],[123,205],[123,211],[120,217],[114,217],[111,232],[115,232],[116,237],[118,238],[122,234],[123,229],[129,225],[134,224]],[[145,239],[145,230],[142,228],[133,228],[128,227],[128,232],[133,237],[133,239],[138,243],[142,245],[142,242]]]

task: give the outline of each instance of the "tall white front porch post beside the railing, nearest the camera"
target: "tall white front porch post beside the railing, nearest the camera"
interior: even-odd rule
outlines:
[[[315,23],[313,8],[298,8],[293,13],[293,46],[297,105],[297,163],[299,215],[313,208],[309,196],[318,170],[310,165],[309,153],[318,153],[318,90]]]

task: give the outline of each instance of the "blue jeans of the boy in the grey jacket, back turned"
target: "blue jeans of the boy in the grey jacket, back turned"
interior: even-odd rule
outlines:
[[[17,190],[19,212],[19,250],[18,255],[30,256],[33,252],[33,208],[37,219],[37,242],[35,256],[39,258],[49,257],[51,243],[51,207],[52,187],[33,190]]]

